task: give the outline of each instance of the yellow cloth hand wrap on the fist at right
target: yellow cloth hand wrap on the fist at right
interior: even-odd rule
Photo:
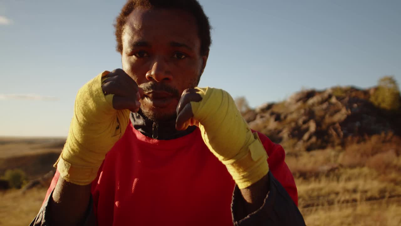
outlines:
[[[210,87],[196,89],[202,101],[190,104],[209,150],[225,164],[239,189],[259,181],[269,165],[257,133],[252,134],[228,92]]]

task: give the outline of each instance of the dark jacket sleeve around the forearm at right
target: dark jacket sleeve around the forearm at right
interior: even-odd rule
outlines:
[[[235,226],[304,226],[304,218],[284,187],[271,171],[269,175],[269,193],[261,208],[246,215],[245,200],[235,185],[231,210]],[[245,217],[243,217],[245,216]]]

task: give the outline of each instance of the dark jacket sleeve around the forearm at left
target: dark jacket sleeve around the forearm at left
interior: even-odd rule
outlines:
[[[55,176],[53,177],[53,180],[51,182],[51,185],[47,191],[45,201],[43,201],[42,207],[39,210],[39,213],[35,216],[35,218],[32,220],[32,222],[29,224],[29,226],[52,226],[49,223],[49,208],[50,208],[50,199],[53,195],[54,188],[57,184],[57,181],[59,179],[60,173],[59,171],[56,171]],[[96,218],[95,218],[95,212],[93,211],[93,198],[92,195],[89,200],[89,205],[86,210],[86,215],[85,215],[85,221],[82,226],[95,226],[96,225]]]

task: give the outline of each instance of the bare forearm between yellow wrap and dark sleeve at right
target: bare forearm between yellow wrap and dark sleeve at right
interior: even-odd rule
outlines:
[[[265,175],[253,185],[241,189],[242,197],[245,200],[246,215],[261,208],[269,192],[269,175]]]

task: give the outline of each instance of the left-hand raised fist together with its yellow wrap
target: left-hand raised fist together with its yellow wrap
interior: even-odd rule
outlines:
[[[121,69],[105,71],[82,86],[56,163],[65,181],[87,185],[96,178],[105,155],[124,135],[130,111],[138,111],[141,91]]]

